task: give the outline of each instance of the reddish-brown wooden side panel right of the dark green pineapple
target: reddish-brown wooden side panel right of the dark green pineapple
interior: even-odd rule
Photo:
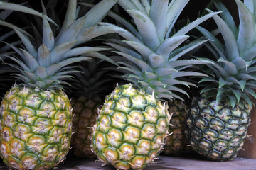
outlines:
[[[254,100],[256,104],[256,100]],[[256,108],[251,111],[251,125],[248,128],[248,137],[245,140],[244,146],[238,154],[239,157],[256,159]],[[255,160],[256,162],[256,160]],[[256,169],[256,168],[255,168]]]

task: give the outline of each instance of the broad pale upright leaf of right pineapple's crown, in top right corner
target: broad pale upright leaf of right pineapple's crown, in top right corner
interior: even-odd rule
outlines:
[[[255,18],[240,0],[235,0],[239,11],[238,48],[240,52],[252,47],[255,40]]]

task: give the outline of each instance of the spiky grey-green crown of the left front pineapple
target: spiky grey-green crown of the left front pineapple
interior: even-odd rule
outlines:
[[[91,60],[90,57],[107,58],[98,53],[100,50],[105,50],[105,48],[78,47],[78,45],[97,36],[85,34],[87,28],[95,30],[94,26],[98,22],[97,19],[102,19],[116,2],[117,0],[100,1],[85,16],[76,18],[75,14],[78,12],[77,1],[68,1],[65,19],[58,35],[54,35],[48,22],[48,17],[41,13],[43,18],[43,40],[39,47],[33,44],[31,35],[28,35],[24,30],[17,28],[13,24],[1,21],[2,25],[14,29],[24,46],[22,49],[18,49],[14,45],[9,44],[19,56],[9,56],[15,63],[6,63],[18,71],[18,73],[12,74],[13,77],[20,79],[27,86],[41,89],[59,89],[62,88],[63,84],[68,84],[67,79],[72,78],[70,74],[78,72],[76,67],[71,65],[74,62],[88,61]],[[102,6],[102,4],[105,4],[105,6]],[[21,11],[20,8],[14,9]],[[26,10],[28,9],[30,8],[26,8]],[[26,12],[28,13],[28,11]],[[45,10],[44,13],[46,13]],[[97,13],[97,17],[92,21],[91,18],[95,13]],[[78,37],[83,39],[78,40]],[[38,37],[34,36],[32,38],[37,39]],[[87,57],[80,55],[86,55]]]

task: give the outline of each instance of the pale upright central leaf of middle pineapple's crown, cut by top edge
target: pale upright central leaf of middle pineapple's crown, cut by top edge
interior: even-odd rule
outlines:
[[[158,31],[160,42],[164,40],[166,34],[166,17],[168,12],[168,2],[166,0],[152,0],[149,18],[153,21]]]

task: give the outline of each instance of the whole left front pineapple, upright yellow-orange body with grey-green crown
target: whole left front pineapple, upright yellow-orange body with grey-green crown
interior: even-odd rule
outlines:
[[[106,2],[107,6],[116,3],[101,1],[100,6]],[[63,85],[68,84],[70,74],[78,72],[70,64],[90,60],[80,55],[97,57],[100,56],[97,51],[104,50],[77,47],[82,42],[76,38],[84,33],[86,26],[93,28],[98,22],[93,23],[90,19],[85,22],[90,13],[97,13],[97,17],[102,18],[109,10],[105,6],[95,6],[76,19],[76,3],[68,1],[58,35],[54,35],[47,17],[42,14],[43,40],[39,47],[28,34],[3,22],[13,28],[23,42],[21,50],[10,45],[19,56],[9,56],[13,62],[7,63],[17,70],[18,73],[12,75],[21,83],[14,84],[6,92],[0,106],[0,155],[9,169],[51,169],[65,159],[70,149],[73,108]]]

